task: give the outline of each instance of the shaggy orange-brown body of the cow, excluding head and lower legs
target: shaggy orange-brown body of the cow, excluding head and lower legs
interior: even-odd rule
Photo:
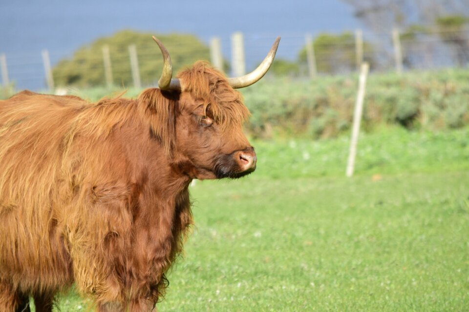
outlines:
[[[0,101],[0,289],[75,283],[98,301],[125,300],[132,280],[132,290],[164,289],[192,217],[187,178],[172,197],[157,192],[172,167],[144,104],[31,92]]]

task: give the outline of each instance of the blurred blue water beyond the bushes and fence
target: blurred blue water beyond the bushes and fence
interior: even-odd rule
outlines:
[[[191,33],[205,42],[222,39],[230,57],[230,35],[245,34],[248,69],[282,36],[277,56],[294,59],[305,33],[341,32],[360,27],[340,0],[0,0],[0,53],[18,89],[44,88],[41,51],[52,65],[80,46],[122,29]]]

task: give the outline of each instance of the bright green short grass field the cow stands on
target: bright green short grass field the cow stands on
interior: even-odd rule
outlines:
[[[469,311],[469,128],[361,134],[353,178],[348,140],[254,141],[254,174],[197,181],[158,311]]]

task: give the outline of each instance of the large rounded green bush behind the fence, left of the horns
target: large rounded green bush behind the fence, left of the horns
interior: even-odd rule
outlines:
[[[109,46],[113,83],[118,86],[132,85],[128,46],[137,49],[140,78],[144,85],[154,84],[161,75],[163,58],[155,35],[166,46],[171,55],[173,71],[191,65],[198,59],[210,59],[209,48],[192,35],[157,35],[130,30],[118,32],[111,37],[100,38],[77,50],[71,59],[61,60],[53,75],[59,86],[105,85],[103,46]]]

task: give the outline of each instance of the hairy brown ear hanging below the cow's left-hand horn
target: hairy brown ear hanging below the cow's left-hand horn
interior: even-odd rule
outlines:
[[[163,143],[166,153],[171,154],[175,140],[175,112],[179,93],[158,88],[144,90],[138,97],[138,106],[152,133]]]

